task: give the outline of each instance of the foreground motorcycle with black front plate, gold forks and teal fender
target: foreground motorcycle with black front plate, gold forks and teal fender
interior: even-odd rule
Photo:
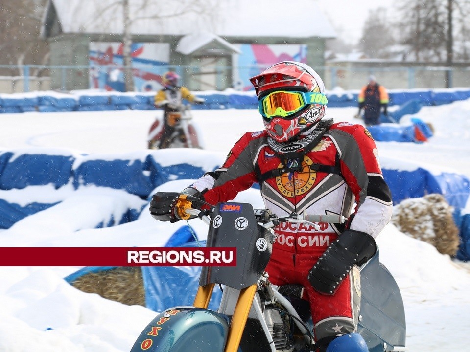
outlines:
[[[236,247],[236,266],[202,267],[193,305],[171,307],[158,314],[143,329],[131,352],[314,351],[308,302],[299,298],[302,287],[276,287],[264,271],[275,241],[272,228],[281,222],[296,222],[318,230],[322,222],[342,223],[345,218],[295,213],[278,218],[268,211],[254,210],[251,204],[234,202],[199,211],[188,205],[191,196],[180,197],[187,200],[177,201],[178,215],[184,220],[196,215],[209,225],[207,247]],[[232,211],[227,211],[229,208]],[[360,270],[362,296],[357,332],[369,352],[406,351],[400,289],[379,262],[378,251]],[[216,284],[223,291],[222,298],[217,310],[210,310]]]

